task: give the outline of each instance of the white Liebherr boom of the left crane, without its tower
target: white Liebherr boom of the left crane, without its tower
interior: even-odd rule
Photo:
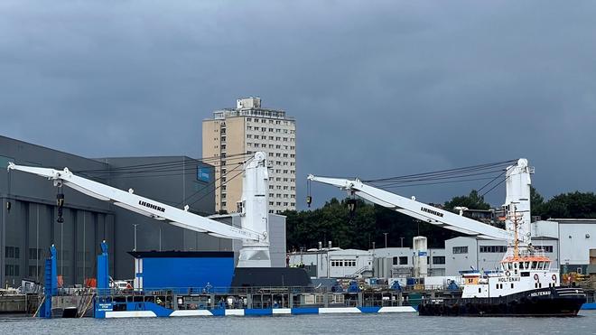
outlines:
[[[190,229],[200,233],[207,233],[214,237],[243,239],[253,241],[266,240],[266,232],[260,234],[252,230],[228,226],[219,221],[201,217],[188,211],[188,207],[177,209],[159,201],[136,195],[131,189],[122,191],[97,181],[79,177],[68,168],[63,171],[33,166],[8,164],[11,170],[28,172],[46,177],[54,181],[55,186],[66,185],[76,191],[87,194],[98,200],[109,201],[123,209],[128,209],[146,217],[168,222],[174,226]]]

